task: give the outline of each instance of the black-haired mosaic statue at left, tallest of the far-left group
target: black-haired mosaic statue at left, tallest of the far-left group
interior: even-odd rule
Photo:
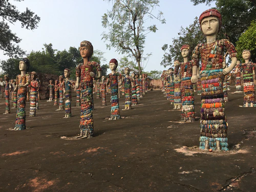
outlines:
[[[16,88],[18,90],[17,112],[14,130],[26,130],[26,96],[27,87],[30,84],[30,76],[27,73],[30,67],[28,58],[19,61],[20,75],[16,77]]]

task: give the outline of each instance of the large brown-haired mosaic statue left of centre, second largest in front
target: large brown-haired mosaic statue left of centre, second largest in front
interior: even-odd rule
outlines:
[[[81,86],[81,115],[80,135],[77,138],[91,138],[94,133],[93,127],[93,78],[101,78],[101,69],[97,62],[90,61],[93,54],[93,46],[90,41],[80,43],[80,55],[83,63],[76,68],[76,89]],[[96,70],[97,74],[93,71]]]

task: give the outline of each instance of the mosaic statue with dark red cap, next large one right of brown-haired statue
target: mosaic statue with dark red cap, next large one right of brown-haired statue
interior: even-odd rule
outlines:
[[[120,119],[119,99],[118,99],[118,77],[121,78],[121,74],[116,72],[118,62],[116,59],[110,60],[111,74],[108,75],[108,83],[111,84],[111,116],[110,120]]]

